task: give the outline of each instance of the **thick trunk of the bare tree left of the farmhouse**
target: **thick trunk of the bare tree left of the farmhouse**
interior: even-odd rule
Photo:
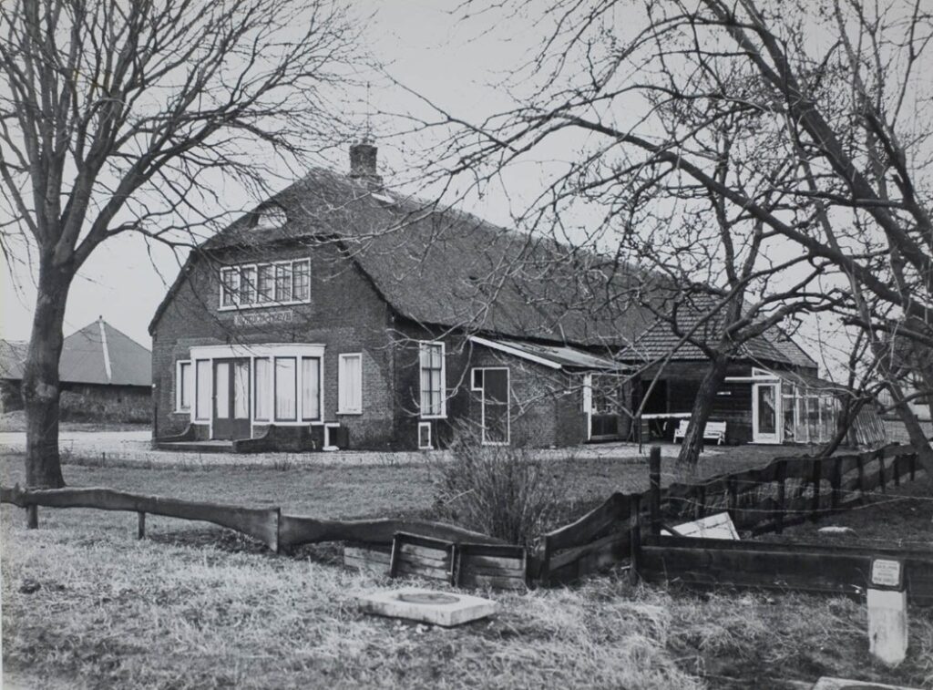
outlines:
[[[68,288],[73,275],[39,260],[33,332],[22,374],[22,401],[26,411],[26,486],[64,486],[59,458],[59,359]]]

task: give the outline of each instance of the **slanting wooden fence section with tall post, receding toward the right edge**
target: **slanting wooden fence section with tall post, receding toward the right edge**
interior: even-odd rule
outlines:
[[[576,522],[545,535],[532,559],[537,579],[543,584],[572,582],[627,560],[633,543],[642,543],[643,532],[654,538],[662,524],[728,511],[736,528],[755,535],[781,532],[848,510],[870,492],[926,474],[910,446],[831,458],[778,458],[758,469],[666,489],[660,486],[660,463],[660,451],[652,449],[648,491],[613,494]]]

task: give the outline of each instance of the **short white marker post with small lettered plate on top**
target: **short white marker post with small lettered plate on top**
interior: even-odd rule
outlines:
[[[888,666],[907,655],[907,591],[904,562],[872,558],[868,590],[869,651]]]

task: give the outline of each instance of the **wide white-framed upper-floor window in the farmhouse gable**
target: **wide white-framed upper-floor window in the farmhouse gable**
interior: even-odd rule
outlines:
[[[311,261],[230,266],[220,271],[220,308],[306,303],[311,299]]]

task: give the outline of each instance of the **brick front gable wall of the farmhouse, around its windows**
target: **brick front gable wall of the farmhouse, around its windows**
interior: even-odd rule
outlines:
[[[311,301],[287,307],[219,309],[221,261],[247,263],[311,258]],[[156,384],[158,435],[179,433],[188,413],[175,413],[175,362],[188,359],[195,345],[309,343],[325,345],[323,361],[324,418],[350,430],[355,448],[392,447],[395,418],[392,382],[394,353],[388,335],[390,310],[369,282],[342,258],[334,246],[277,246],[228,252],[208,265],[199,261],[156,324],[152,374]],[[272,325],[238,325],[236,315],[281,313],[291,321]],[[362,353],[363,414],[337,415],[338,356]],[[257,427],[257,430],[259,428]]]

